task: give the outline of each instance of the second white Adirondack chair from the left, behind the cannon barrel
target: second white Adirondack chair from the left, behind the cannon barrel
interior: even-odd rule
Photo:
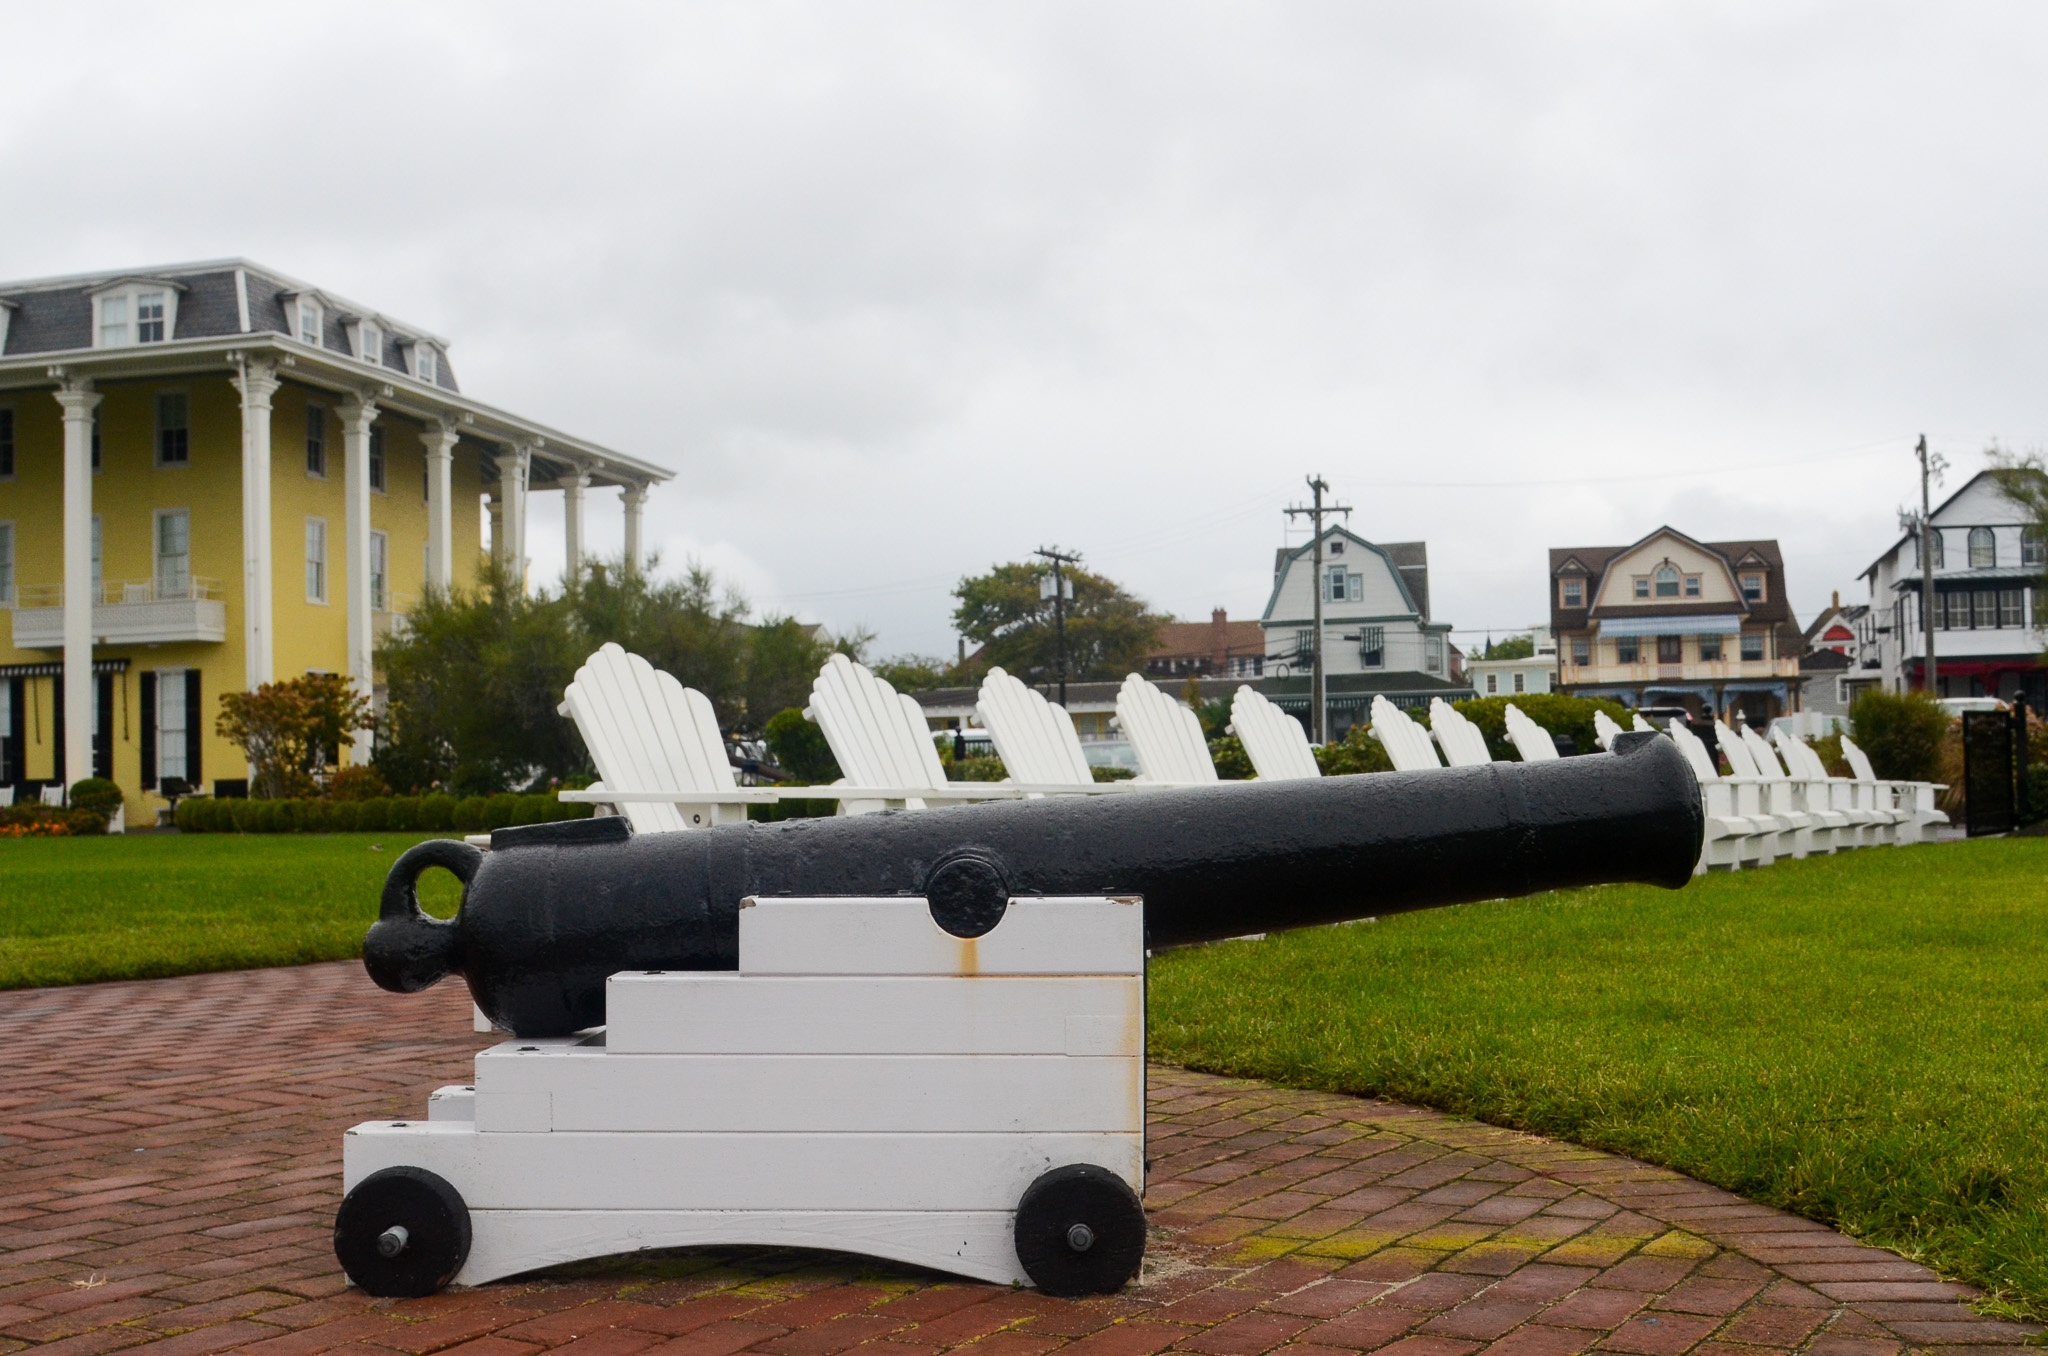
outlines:
[[[827,658],[817,672],[811,705],[803,715],[817,721],[846,774],[834,782],[840,813],[926,809],[1020,795],[1004,782],[948,782],[946,764],[932,748],[924,709],[842,653]]]

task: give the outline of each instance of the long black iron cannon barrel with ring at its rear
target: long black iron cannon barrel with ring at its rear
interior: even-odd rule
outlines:
[[[500,830],[492,852],[412,848],[362,959],[385,989],[461,973],[500,1026],[567,1034],[604,1020],[616,971],[737,969],[750,895],[924,895],[958,936],[993,928],[1014,897],[1141,895],[1147,944],[1174,946],[1573,885],[1679,887],[1702,830],[1698,782],[1657,735],[1556,762],[680,834],[582,819]],[[420,909],[430,866],[465,883],[453,920]]]

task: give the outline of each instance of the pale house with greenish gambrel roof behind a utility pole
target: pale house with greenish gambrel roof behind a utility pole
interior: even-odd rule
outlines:
[[[1313,541],[1274,555],[1274,592],[1260,617],[1268,674],[1260,686],[1284,711],[1309,709],[1317,590],[1331,737],[1341,739],[1354,723],[1370,719],[1374,694],[1405,707],[1473,694],[1450,645],[1450,623],[1430,619],[1427,545],[1376,545],[1333,526],[1323,533],[1321,578]]]

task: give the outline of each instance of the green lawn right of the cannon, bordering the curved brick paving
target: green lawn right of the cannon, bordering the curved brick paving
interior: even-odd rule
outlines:
[[[1151,1055],[1667,1163],[2048,1315],[2048,840],[1157,957]]]

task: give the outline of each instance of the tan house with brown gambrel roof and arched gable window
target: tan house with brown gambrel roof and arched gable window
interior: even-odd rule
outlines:
[[[1776,541],[1661,526],[1626,547],[1556,547],[1550,633],[1565,692],[1739,709],[1753,725],[1798,701],[1804,637]]]

